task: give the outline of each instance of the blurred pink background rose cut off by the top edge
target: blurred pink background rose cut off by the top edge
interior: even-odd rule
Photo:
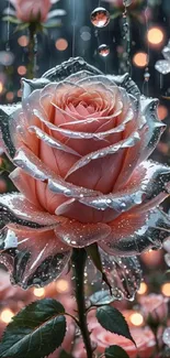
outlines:
[[[23,22],[41,21],[45,22],[49,9],[50,0],[10,0],[16,10],[16,18]]]

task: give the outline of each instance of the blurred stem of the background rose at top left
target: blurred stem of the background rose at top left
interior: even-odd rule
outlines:
[[[36,72],[36,52],[37,52],[37,37],[36,37],[36,23],[31,22],[29,25],[29,66],[27,66],[27,78],[32,79],[35,77]]]

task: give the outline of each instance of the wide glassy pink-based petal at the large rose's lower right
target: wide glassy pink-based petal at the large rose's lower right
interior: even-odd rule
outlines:
[[[125,213],[110,223],[112,234],[100,241],[100,247],[110,254],[132,256],[149,249],[161,248],[169,237],[170,220],[160,209]]]

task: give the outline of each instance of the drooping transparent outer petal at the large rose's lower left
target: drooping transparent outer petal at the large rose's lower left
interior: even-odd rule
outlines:
[[[11,232],[15,235],[18,249],[3,250],[0,260],[10,269],[15,284],[23,289],[44,286],[61,274],[71,251],[54,230],[8,226],[3,229],[4,243]]]

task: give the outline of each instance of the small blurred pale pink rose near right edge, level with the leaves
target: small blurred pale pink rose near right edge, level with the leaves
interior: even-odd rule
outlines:
[[[155,293],[139,297],[143,316],[146,319],[150,317],[155,322],[162,322],[168,315],[168,301],[163,295]]]

